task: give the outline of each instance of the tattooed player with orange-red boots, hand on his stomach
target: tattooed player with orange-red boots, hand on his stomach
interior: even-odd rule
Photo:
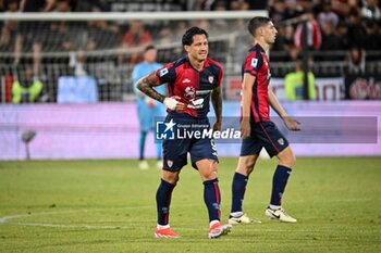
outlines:
[[[209,102],[216,113],[213,130],[221,130],[222,98],[221,65],[208,58],[208,34],[206,30],[192,27],[182,38],[186,56],[164,65],[138,81],[142,92],[162,102],[168,109],[167,128],[175,124],[196,126],[198,130],[209,129],[207,117]],[[157,92],[153,87],[168,84],[169,98]],[[169,212],[173,188],[179,181],[183,166],[187,164],[187,153],[192,165],[204,182],[204,200],[209,214],[209,238],[226,235],[231,225],[220,224],[221,194],[218,184],[218,155],[212,138],[174,138],[163,140],[163,170],[161,184],[156,194],[158,224],[157,238],[179,238],[169,224]]]

